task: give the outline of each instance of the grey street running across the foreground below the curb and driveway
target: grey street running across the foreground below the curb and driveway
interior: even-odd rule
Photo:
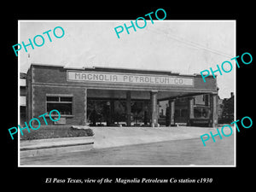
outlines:
[[[20,166],[234,166],[234,136],[144,143],[90,151],[26,157]]]

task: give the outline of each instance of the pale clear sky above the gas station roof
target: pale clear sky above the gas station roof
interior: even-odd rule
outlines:
[[[135,22],[135,20],[133,20]],[[164,70],[180,74],[217,69],[223,61],[236,56],[235,20],[147,20],[143,29],[131,27],[130,34],[114,32],[117,26],[131,25],[131,20],[19,20],[18,44],[29,44],[36,35],[44,37],[44,45],[34,49],[22,47],[19,54],[20,73],[31,63],[65,67],[122,67]],[[138,22],[143,26],[144,22]],[[53,30],[61,26],[62,38]],[[49,32],[52,42],[43,32]],[[56,29],[61,35],[61,30]],[[37,43],[41,44],[40,38]],[[29,55],[29,56],[28,56]],[[233,70],[217,77],[218,95],[230,97],[235,91],[236,64]],[[227,67],[228,70],[228,67]]]

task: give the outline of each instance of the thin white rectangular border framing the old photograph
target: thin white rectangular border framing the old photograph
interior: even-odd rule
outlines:
[[[20,42],[20,22],[113,22],[113,21],[131,21],[131,20],[18,20],[18,42]],[[163,20],[154,20],[155,22],[163,22]],[[171,21],[171,22],[207,22],[207,21],[213,21],[213,22],[235,22],[235,46],[234,46],[234,53],[236,56],[236,20],[164,20],[166,21]],[[235,103],[235,120],[236,120],[236,67],[235,67],[235,93],[234,93],[234,103]],[[18,53],[18,123],[20,125],[20,57]],[[235,127],[234,127],[235,129]],[[234,165],[229,165],[229,166],[219,166],[219,165],[212,165],[212,166],[197,166],[197,165],[190,165],[190,166],[160,166],[160,165],[155,165],[155,166],[123,166],[123,165],[115,165],[115,166],[20,166],[20,130],[18,131],[18,167],[236,167],[236,131],[234,131]]]

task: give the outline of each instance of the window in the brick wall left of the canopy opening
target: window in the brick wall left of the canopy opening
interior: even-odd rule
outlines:
[[[73,96],[46,96],[47,113],[58,110],[61,115],[72,115]]]

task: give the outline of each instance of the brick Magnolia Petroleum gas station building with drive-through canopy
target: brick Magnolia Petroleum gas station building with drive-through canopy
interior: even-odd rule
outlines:
[[[218,123],[218,88],[211,76],[204,83],[200,74],[32,64],[26,86],[26,120],[57,109],[56,123],[67,125]]]

